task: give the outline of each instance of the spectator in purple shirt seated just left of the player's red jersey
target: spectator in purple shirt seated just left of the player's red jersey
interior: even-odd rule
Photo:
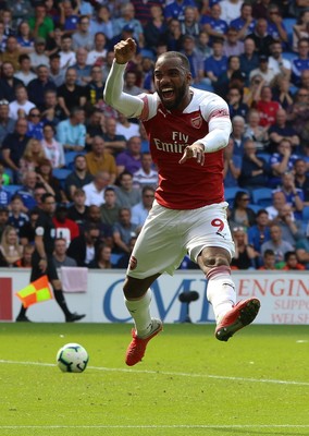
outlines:
[[[128,140],[126,150],[116,156],[118,174],[128,171],[132,174],[141,168],[141,140],[133,136]]]

